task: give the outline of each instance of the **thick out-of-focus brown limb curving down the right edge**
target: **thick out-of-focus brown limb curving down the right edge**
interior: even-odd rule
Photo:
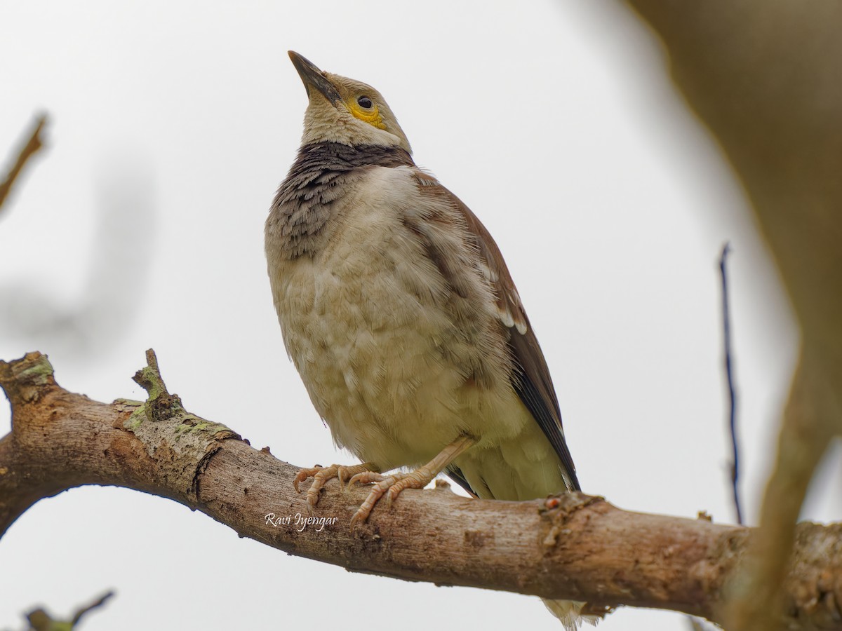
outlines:
[[[733,631],[765,631],[781,612],[807,487],[842,433],[842,3],[627,2],[743,183],[801,329],[759,537],[725,618]]]

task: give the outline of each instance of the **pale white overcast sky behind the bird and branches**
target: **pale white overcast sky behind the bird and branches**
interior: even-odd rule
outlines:
[[[40,350],[69,390],[143,398],[131,375],[154,347],[189,410],[294,464],[350,461],[287,361],[265,271],[264,218],[306,107],[286,56],[297,50],[377,87],[418,164],[488,226],[584,490],[618,506],[733,520],[717,270],[732,241],[754,519],[797,333],[741,190],[624,6],[514,6],[7,3],[0,156],[36,111],[51,125],[0,216],[0,358]],[[839,515],[828,466],[837,488],[808,517]],[[0,567],[0,628],[109,588],[89,631],[560,628],[536,598],[352,575],[114,488],[41,501],[0,541]],[[624,609],[600,628],[686,623]]]

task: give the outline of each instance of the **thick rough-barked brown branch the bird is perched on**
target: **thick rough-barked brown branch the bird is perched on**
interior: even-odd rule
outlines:
[[[45,356],[0,362],[13,430],[0,439],[0,535],[29,506],[86,484],[168,497],[289,554],[411,581],[485,587],[594,608],[658,607],[722,620],[723,586],[755,533],[705,519],[622,511],[580,493],[482,501],[407,490],[349,528],[365,490],[322,493],[306,514],[298,468],[184,410],[154,355],[145,402],[106,404],[56,384]],[[797,527],[780,628],[842,629],[842,524]]]

